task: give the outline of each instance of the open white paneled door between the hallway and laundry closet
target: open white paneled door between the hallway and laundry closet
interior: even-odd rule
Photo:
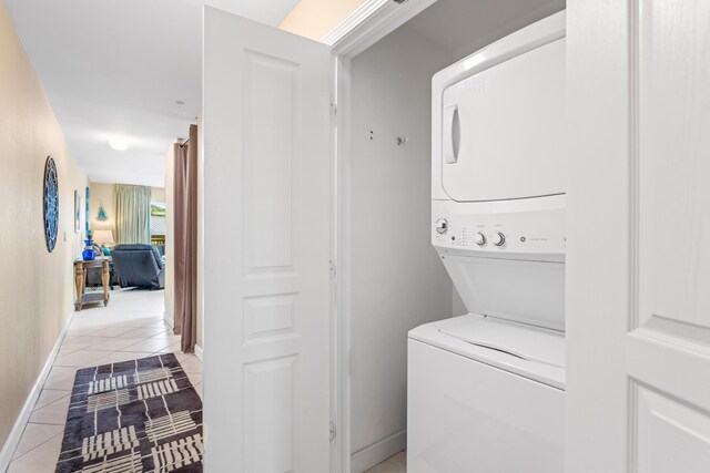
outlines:
[[[205,8],[206,471],[328,469],[328,66]]]

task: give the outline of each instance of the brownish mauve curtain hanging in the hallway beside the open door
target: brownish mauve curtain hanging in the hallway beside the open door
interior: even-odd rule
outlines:
[[[192,352],[197,338],[197,126],[190,125],[190,138],[175,144],[174,238],[175,238],[175,333],[181,348]]]

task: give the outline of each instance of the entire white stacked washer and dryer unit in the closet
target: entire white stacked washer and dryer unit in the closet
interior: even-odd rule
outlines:
[[[561,472],[565,13],[433,81],[432,243],[468,315],[409,332],[410,473]]]

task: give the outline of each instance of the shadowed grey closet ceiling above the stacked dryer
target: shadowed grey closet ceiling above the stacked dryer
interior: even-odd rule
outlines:
[[[407,27],[458,60],[564,8],[565,0],[438,0]]]

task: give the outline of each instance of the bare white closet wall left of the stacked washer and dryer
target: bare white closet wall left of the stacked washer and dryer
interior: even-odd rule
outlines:
[[[352,63],[354,471],[404,448],[407,331],[452,316],[453,286],[429,241],[430,83],[450,58],[405,27]]]

